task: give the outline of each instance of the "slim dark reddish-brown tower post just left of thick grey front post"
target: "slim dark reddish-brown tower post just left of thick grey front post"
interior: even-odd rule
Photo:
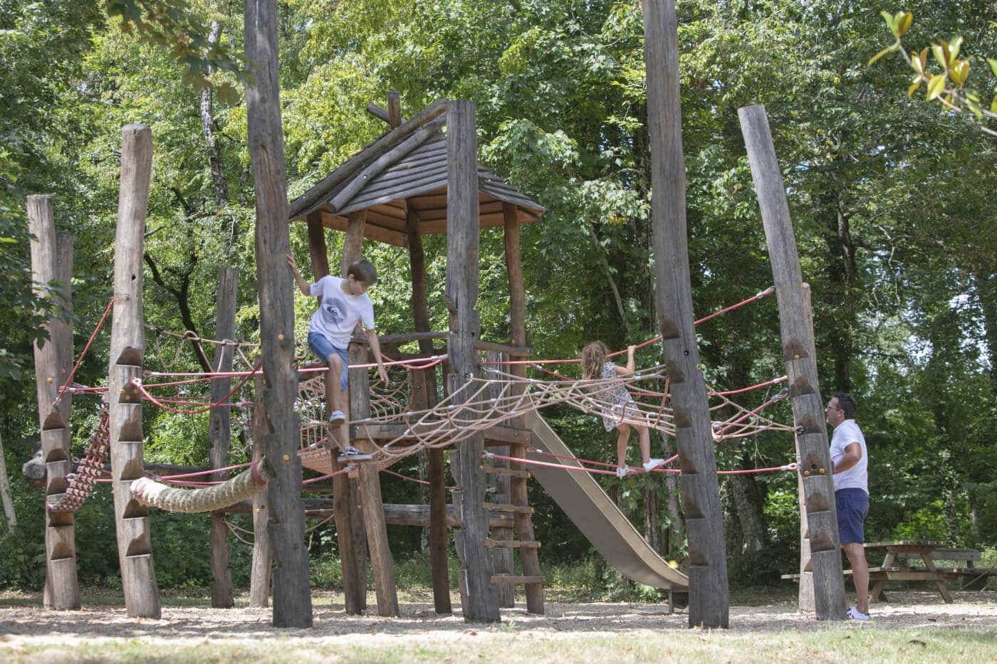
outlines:
[[[388,97],[389,107],[391,96]],[[416,332],[430,332],[430,310],[426,299],[426,254],[419,229],[419,213],[409,209],[406,214],[409,231],[409,263],[412,267],[412,315]],[[432,355],[433,340],[420,339],[419,352]],[[437,404],[436,370],[413,370],[413,406],[416,410]],[[418,400],[418,401],[417,401]],[[450,569],[447,559],[447,469],[443,450],[432,448],[429,457],[430,483],[430,567],[433,574],[433,605],[438,614],[453,613],[450,602]]]

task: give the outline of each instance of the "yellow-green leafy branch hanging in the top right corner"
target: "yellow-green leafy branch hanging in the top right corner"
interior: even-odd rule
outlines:
[[[997,87],[993,90],[994,95],[990,102],[990,108],[985,109],[979,94],[967,87],[970,59],[968,57],[962,60],[958,59],[959,50],[962,47],[962,37],[955,37],[950,42],[939,39],[937,42],[931,43],[931,55],[941,66],[941,72],[936,74],[927,69],[928,47],[924,47],[919,52],[910,51],[907,53],[901,44],[903,35],[910,30],[910,26],[913,24],[914,15],[904,11],[896,14],[885,11],[879,13],[885,19],[886,26],[893,33],[896,41],[872,56],[868,65],[871,66],[883,56],[899,53],[907,65],[914,70],[914,78],[910,87],[907,88],[907,97],[913,97],[922,83],[927,84],[925,101],[937,100],[946,109],[956,113],[964,113],[968,110],[975,116],[975,124],[980,131],[997,137],[997,131],[984,125],[986,121],[997,120]],[[997,60],[994,58],[986,60],[987,64],[990,65],[990,71],[997,78]]]

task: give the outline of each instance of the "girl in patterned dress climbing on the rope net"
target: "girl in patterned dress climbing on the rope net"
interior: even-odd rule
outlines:
[[[627,360],[624,368],[608,362],[606,355],[609,353],[609,349],[601,341],[593,341],[581,351],[581,377],[584,380],[594,380],[633,375],[633,351],[635,348],[635,346],[627,347]],[[616,477],[624,478],[632,470],[626,466],[626,446],[630,440],[631,426],[637,430],[640,459],[644,466],[644,472],[650,472],[661,466],[664,463],[663,459],[651,459],[651,439],[647,427],[622,422],[624,413],[629,417],[637,414],[636,405],[626,387],[618,385],[612,390],[600,392],[599,398],[603,403],[608,404],[602,408],[602,426],[605,427],[606,431],[616,430]]]

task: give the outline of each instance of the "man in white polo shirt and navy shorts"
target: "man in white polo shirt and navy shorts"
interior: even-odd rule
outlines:
[[[851,580],[857,595],[855,606],[847,611],[854,620],[869,619],[869,567],[865,562],[865,515],[869,511],[868,455],[865,438],[855,424],[855,400],[836,392],[825,410],[831,437],[831,468],[834,481],[834,504],[837,508],[837,532],[841,548],[851,565]]]

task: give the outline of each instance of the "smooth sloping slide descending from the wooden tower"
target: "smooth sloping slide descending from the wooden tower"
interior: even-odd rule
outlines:
[[[526,427],[533,433],[533,447],[562,457],[573,457],[550,425],[535,411],[526,416]],[[570,460],[552,460],[535,452],[527,459],[563,466],[581,464]],[[592,475],[548,466],[528,466],[530,474],[560,505],[582,534],[592,542],[606,562],[629,579],[654,586],[687,592],[689,578],[668,566],[658,553],[648,546],[619,507],[606,496]]]

